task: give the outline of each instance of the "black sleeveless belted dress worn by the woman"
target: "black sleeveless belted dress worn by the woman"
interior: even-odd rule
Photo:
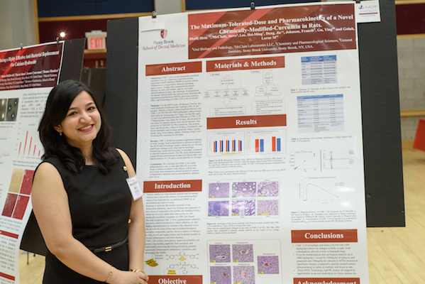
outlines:
[[[57,158],[45,160],[60,173],[67,191],[72,219],[72,235],[89,248],[101,248],[117,244],[128,235],[128,218],[131,209],[131,192],[120,158],[108,175],[96,166],[88,165],[82,173],[67,170]],[[96,256],[120,270],[128,270],[128,246],[124,244]],[[105,280],[108,271],[105,271]],[[72,271],[61,263],[50,251],[45,258],[44,284],[101,283]]]

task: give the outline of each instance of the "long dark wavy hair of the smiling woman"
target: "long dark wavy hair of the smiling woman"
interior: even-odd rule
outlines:
[[[94,165],[99,167],[101,173],[106,174],[109,173],[119,155],[109,147],[109,139],[111,138],[109,124],[106,122],[101,106],[97,104],[92,91],[86,85],[74,80],[60,82],[49,94],[43,117],[38,126],[40,141],[44,147],[42,158],[43,160],[50,157],[60,158],[62,163],[72,172],[82,172],[85,165],[82,151],[79,148],[70,146],[65,136],[60,136],[54,127],[62,123],[72,101],[83,91],[92,96],[94,104],[99,109],[101,128],[93,141],[92,160]]]

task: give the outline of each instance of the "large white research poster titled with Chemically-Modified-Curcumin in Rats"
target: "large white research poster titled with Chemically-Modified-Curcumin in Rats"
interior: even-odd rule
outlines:
[[[139,18],[150,283],[369,283],[355,6]]]

